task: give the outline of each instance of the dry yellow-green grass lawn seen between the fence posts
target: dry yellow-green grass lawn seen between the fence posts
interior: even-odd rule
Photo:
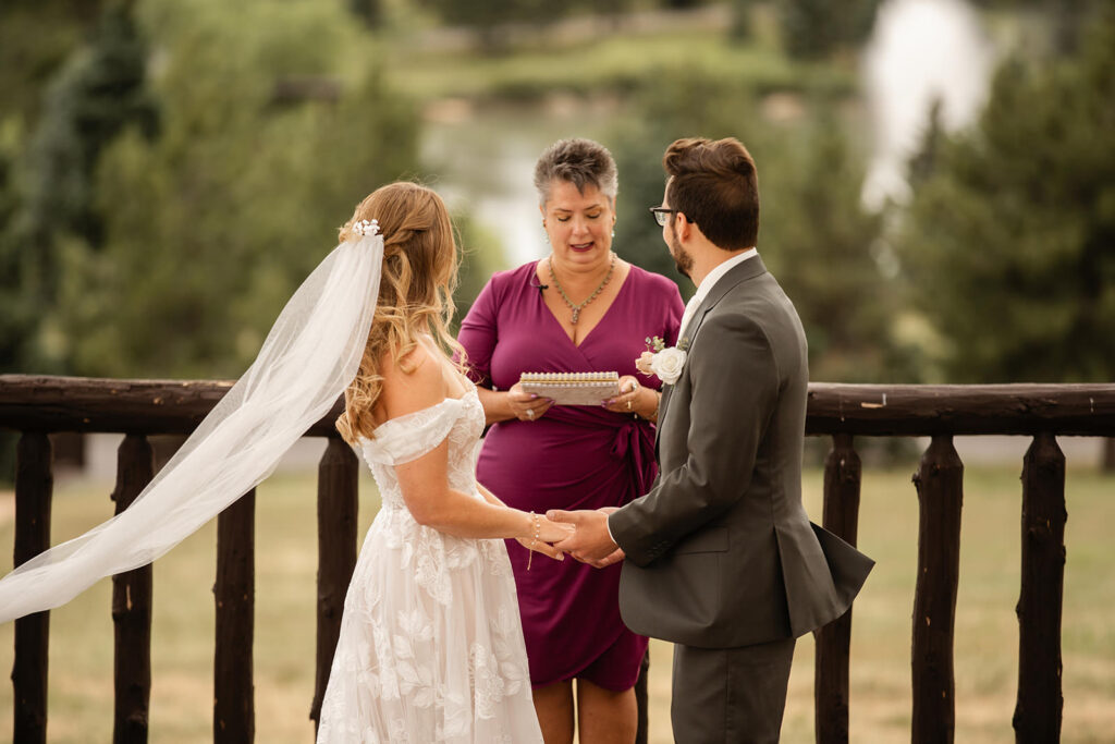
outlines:
[[[865,468],[860,547],[878,567],[855,605],[851,741],[910,740],[910,616],[917,561],[914,464]],[[1020,468],[1020,466],[1019,466]],[[971,467],[964,481],[957,599],[957,741],[1014,742],[1017,683],[1019,468]],[[806,474],[806,505],[821,514],[821,473]],[[255,728],[258,742],[309,742],[313,695],[316,476],[280,475],[256,500]],[[112,514],[110,484],[56,489],[54,540]],[[1111,537],[1115,476],[1068,462],[1068,560],[1063,630],[1066,743],[1111,741],[1115,731],[1115,571]],[[0,554],[11,555],[10,497],[0,503]],[[377,506],[361,482],[360,534]],[[211,741],[215,526],[155,564],[151,741]],[[49,741],[110,740],[113,630],[109,582],[51,615]],[[668,644],[651,647],[653,742],[669,742]],[[783,741],[813,742],[813,640],[799,640]],[[11,668],[12,626],[0,626],[0,667]],[[10,731],[12,694],[0,686],[0,732]],[[4,736],[0,733],[0,740]]]

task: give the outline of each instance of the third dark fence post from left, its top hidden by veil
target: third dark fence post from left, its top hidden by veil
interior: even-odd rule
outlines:
[[[255,611],[255,489],[221,512],[216,528],[216,648],[213,742],[255,736],[252,642]]]

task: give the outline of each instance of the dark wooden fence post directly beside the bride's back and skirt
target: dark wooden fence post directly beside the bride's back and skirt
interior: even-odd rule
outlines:
[[[343,439],[329,437],[318,464],[318,653],[310,704],[314,731],[341,631],[345,595],[356,568],[359,466]]]

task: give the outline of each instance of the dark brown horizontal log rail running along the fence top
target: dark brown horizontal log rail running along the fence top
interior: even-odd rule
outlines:
[[[232,383],[0,375],[0,427],[188,434]],[[307,431],[330,436],[340,402]],[[811,383],[806,434],[1109,436],[1115,384],[843,385]]]

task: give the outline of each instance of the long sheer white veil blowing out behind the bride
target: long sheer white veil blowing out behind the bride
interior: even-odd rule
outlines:
[[[384,239],[365,226],[299,287],[252,366],[130,506],[0,579],[0,622],[167,552],[270,475],[332,408],[356,377],[379,296]]]

